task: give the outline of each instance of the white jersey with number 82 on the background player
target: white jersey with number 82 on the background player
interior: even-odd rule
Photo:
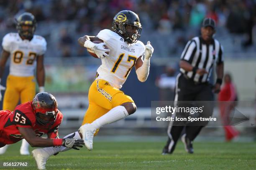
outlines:
[[[28,77],[34,75],[36,56],[46,52],[44,37],[34,35],[32,40],[22,40],[18,33],[3,37],[3,49],[10,52],[10,75]]]

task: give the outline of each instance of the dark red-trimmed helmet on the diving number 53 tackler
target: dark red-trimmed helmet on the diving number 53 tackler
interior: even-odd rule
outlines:
[[[36,122],[39,125],[53,125],[58,113],[55,97],[48,92],[40,92],[33,99],[33,110],[36,113]]]

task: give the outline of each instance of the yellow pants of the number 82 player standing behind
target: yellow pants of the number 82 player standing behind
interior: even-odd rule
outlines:
[[[13,111],[20,103],[32,101],[36,95],[36,81],[34,76],[18,77],[8,75],[6,90],[3,98],[3,110]]]

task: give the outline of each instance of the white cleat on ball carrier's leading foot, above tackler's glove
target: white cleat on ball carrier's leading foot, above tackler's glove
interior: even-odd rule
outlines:
[[[88,150],[92,150],[93,145],[93,136],[96,129],[92,127],[91,124],[82,125],[78,132],[82,134],[82,138],[84,140],[84,144]]]

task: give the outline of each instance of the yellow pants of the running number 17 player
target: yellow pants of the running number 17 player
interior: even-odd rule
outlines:
[[[93,122],[116,106],[125,102],[133,102],[130,96],[110,86],[105,80],[95,80],[92,83],[89,89],[88,99],[89,107],[84,115],[82,125]]]

